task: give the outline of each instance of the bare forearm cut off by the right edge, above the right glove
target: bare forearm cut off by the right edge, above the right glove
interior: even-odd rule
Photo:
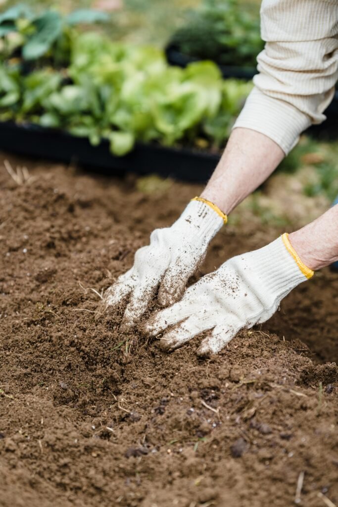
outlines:
[[[301,260],[316,271],[338,261],[338,205],[289,235]]]

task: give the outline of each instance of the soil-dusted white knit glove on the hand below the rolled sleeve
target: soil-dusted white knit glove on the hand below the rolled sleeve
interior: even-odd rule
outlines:
[[[113,308],[129,298],[122,331],[134,327],[158,289],[161,305],[179,300],[187,280],[202,263],[209,242],[226,222],[227,216],[217,206],[198,197],[171,227],[152,233],[150,245],[137,250],[133,267],[105,294],[105,305]]]

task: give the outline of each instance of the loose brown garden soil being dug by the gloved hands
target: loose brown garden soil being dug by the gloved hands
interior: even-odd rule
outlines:
[[[218,356],[164,353],[82,287],[109,286],[200,188],[28,167],[30,185],[0,174],[1,507],[285,507],[298,479],[301,505],[338,504],[338,275]],[[202,272],[281,232],[252,224]]]

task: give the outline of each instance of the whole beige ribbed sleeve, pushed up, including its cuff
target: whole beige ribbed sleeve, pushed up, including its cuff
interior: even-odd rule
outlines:
[[[254,88],[234,128],[273,139],[285,154],[325,120],[338,79],[338,0],[263,0]],[[338,121],[338,120],[337,120]]]

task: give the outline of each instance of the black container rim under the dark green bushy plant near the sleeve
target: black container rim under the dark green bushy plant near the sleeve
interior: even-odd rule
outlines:
[[[192,56],[181,53],[178,47],[174,44],[169,44],[165,48],[165,54],[168,63],[170,63],[170,65],[176,65],[177,67],[184,68],[189,65],[189,63],[200,61],[199,58],[194,58]],[[238,67],[233,65],[221,65],[217,62],[215,63],[218,65],[223,78],[237,78],[249,81],[255,74],[257,74],[255,67]]]

